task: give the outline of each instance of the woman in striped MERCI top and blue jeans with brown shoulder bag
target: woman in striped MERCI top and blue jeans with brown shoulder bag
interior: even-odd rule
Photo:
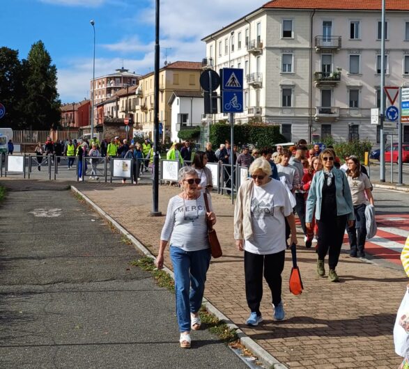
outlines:
[[[206,272],[210,264],[210,245],[206,217],[216,223],[210,196],[200,191],[196,170],[191,166],[178,173],[182,192],[169,200],[166,220],[160,235],[155,264],[163,268],[164,249],[170,240],[176,293],[176,315],[180,331],[180,347],[189,348],[190,329],[201,326],[199,309],[203,299]],[[208,196],[208,209],[204,196]]]

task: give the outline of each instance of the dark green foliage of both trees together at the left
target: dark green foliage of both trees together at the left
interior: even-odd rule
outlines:
[[[56,89],[56,66],[42,41],[31,46],[26,60],[18,52],[0,48],[0,102],[6,107],[1,127],[56,128],[61,119]]]

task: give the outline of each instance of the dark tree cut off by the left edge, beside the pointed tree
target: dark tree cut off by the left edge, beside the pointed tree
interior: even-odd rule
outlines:
[[[0,127],[18,129],[24,123],[21,109],[23,93],[22,64],[18,51],[0,47],[0,102],[6,107]]]

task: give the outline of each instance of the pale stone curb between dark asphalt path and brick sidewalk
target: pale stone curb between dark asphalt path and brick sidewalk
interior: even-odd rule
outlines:
[[[128,230],[123,228],[123,226],[121,226],[120,223],[118,223],[112,217],[110,217],[109,214],[107,214],[107,212],[102,210],[98,205],[96,205],[93,201],[91,201],[91,199],[88,198],[85,194],[83,194],[82,191],[79,191],[79,189],[77,189],[75,186],[72,186],[72,185],[71,185],[71,191],[73,191],[75,194],[82,196],[84,201],[86,201],[88,205],[93,207],[93,210],[95,210],[95,212],[98,212],[98,214],[100,214],[102,218],[109,221],[109,223],[111,223],[112,226],[114,226],[116,230],[118,230],[118,232],[121,233],[121,235],[124,235],[125,237],[127,237],[128,240],[132,242],[135,249],[141,251],[141,253],[143,253],[144,256],[148,256],[148,258],[155,259],[155,256],[151,253],[151,251],[149,251],[143,244],[141,244],[141,242],[139,242],[139,240],[137,240],[137,238],[134,237],[134,235],[129,233]],[[167,272],[174,279],[174,275],[171,269],[164,267],[163,270],[164,272]],[[209,313],[212,313],[213,315],[215,315],[217,319],[224,321],[227,327],[229,327],[229,329],[236,330],[238,338],[240,339],[240,343],[242,343],[242,345],[244,345],[255,356],[257,356],[258,360],[261,361],[263,365],[265,365],[269,369],[288,369],[283,363],[280,363],[277,359],[275,359],[274,356],[269,354],[266,350],[263,349],[263,347],[261,347],[260,345],[258,345],[258,343],[252,340],[252,338],[249,338],[249,336],[247,336],[236,324],[233,324],[231,320],[229,320],[229,318],[226,317],[226,315],[224,315],[221,311],[219,311],[215,306],[213,306],[213,304],[211,304],[204,297],[203,297],[203,304],[205,305],[206,310]]]

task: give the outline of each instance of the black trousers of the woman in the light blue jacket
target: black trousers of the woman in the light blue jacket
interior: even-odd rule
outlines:
[[[329,251],[328,265],[335,269],[344,240],[346,215],[318,220],[318,260],[324,260]]]

